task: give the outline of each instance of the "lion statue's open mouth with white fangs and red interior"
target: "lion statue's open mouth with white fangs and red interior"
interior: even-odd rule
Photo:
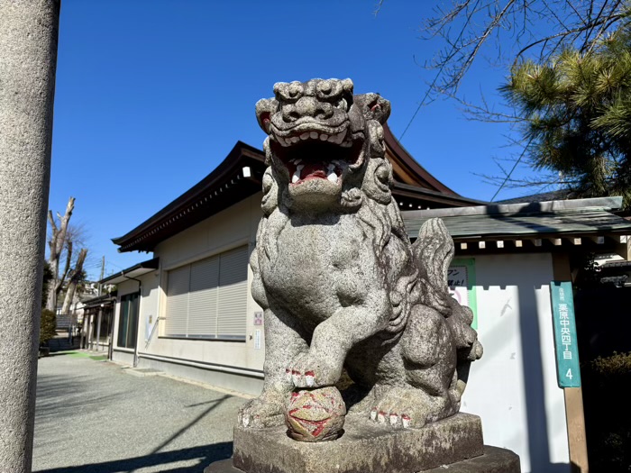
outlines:
[[[314,124],[270,133],[273,154],[287,168],[290,186],[312,179],[341,186],[344,171],[359,168],[363,162],[363,133],[352,135],[348,126],[332,130]]]

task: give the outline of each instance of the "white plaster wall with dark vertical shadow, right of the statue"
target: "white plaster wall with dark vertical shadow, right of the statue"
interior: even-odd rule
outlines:
[[[478,333],[462,411],[480,415],[484,441],[514,450],[522,471],[570,471],[563,391],[557,386],[550,254],[475,257]]]

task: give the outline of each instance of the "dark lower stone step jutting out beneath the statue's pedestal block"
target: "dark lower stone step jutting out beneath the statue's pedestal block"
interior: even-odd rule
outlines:
[[[233,459],[223,459],[212,463],[204,469],[204,473],[242,473],[242,469],[233,466]],[[268,470],[269,473],[275,470]],[[417,473],[520,473],[519,457],[510,450],[498,449],[485,445],[484,454],[474,459],[463,459],[451,465],[425,469]],[[320,473],[325,473],[322,470]],[[355,473],[371,473],[370,470]],[[412,473],[407,472],[407,473]]]

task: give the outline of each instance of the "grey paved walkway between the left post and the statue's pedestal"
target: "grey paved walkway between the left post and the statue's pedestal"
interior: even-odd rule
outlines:
[[[84,352],[40,359],[33,471],[201,473],[232,454],[245,399],[170,377],[136,377]]]

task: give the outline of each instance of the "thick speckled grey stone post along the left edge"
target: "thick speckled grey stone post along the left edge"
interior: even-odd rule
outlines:
[[[0,1],[0,471],[30,473],[59,0]]]

